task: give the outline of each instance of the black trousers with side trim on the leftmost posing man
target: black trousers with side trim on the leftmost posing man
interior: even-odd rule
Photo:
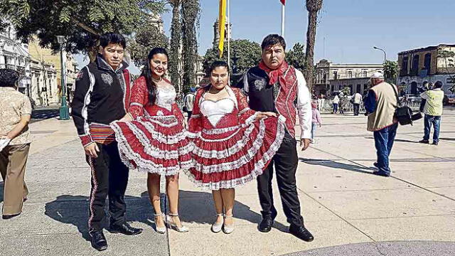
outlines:
[[[109,197],[110,224],[125,222],[124,195],[127,189],[129,169],[120,159],[117,142],[97,144],[100,148],[97,158],[87,156],[92,169],[92,190],[90,191],[89,231],[102,230],[105,218],[105,202]]]

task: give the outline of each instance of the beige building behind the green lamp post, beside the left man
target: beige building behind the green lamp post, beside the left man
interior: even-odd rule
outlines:
[[[53,50],[49,48],[43,48],[39,46],[38,40],[33,40],[28,44],[28,50],[33,59],[41,63],[50,63],[57,72],[55,83],[50,85],[46,95],[45,102],[48,105],[57,105],[60,103],[61,96],[61,61],[60,53],[53,53]],[[75,79],[79,70],[77,68],[77,62],[70,53],[63,52],[63,58],[65,58],[65,82],[68,88],[68,92],[73,91],[75,86]]]

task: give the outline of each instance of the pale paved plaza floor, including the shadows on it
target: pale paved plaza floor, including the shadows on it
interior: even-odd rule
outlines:
[[[31,193],[19,217],[0,220],[0,255],[455,255],[455,111],[444,112],[439,146],[417,143],[422,120],[399,127],[389,178],[371,174],[376,153],[366,117],[322,118],[317,143],[299,152],[297,171],[301,214],[313,242],[287,233],[276,183],[279,215],[270,233],[257,231],[255,182],[236,190],[234,233],[210,232],[210,191],[200,191],[184,174],[180,214],[190,232],[159,235],[146,175],[132,171],[127,219],[144,233],[105,232],[109,247],[97,252],[87,240],[90,169],[82,146],[72,121],[48,119],[31,124]],[[3,183],[0,191],[1,206]]]

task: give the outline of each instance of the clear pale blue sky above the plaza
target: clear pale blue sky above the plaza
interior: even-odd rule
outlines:
[[[200,0],[200,55],[212,47],[218,3]],[[230,6],[232,39],[260,43],[269,33],[281,33],[279,0],[230,0]],[[287,0],[288,48],[306,44],[307,14],[304,0]],[[163,14],[168,36],[171,16],[171,10]],[[404,50],[455,44],[454,27],[455,0],[324,0],[316,31],[315,63],[323,58],[333,63],[382,63],[383,53],[373,46],[383,48],[388,60],[397,60],[397,53]],[[88,62],[82,58],[77,56],[80,68]],[[134,71],[139,72],[137,68]]]

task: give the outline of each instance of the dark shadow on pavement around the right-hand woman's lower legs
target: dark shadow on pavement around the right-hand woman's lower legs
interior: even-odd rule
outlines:
[[[186,222],[211,225],[216,219],[212,193],[198,191],[180,191],[180,199],[178,201],[178,204],[181,220],[184,220]],[[279,208],[279,206],[277,208]],[[251,210],[250,206],[246,206],[239,201],[235,201],[234,217],[257,224],[259,224],[262,220],[262,215],[255,213]],[[288,230],[287,226],[277,221],[274,223],[274,228],[277,228],[278,230],[285,233],[287,233]]]

